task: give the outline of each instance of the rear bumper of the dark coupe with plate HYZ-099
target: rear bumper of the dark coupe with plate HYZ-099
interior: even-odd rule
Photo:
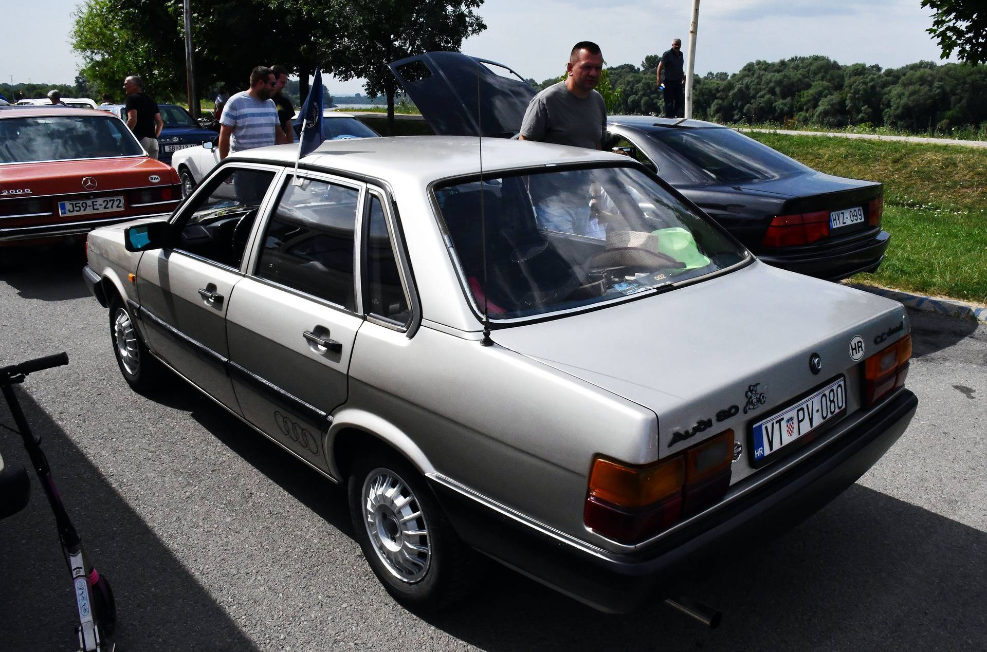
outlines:
[[[757,257],[775,267],[781,267],[806,276],[839,281],[865,271],[876,271],[884,259],[884,252],[891,240],[886,231],[873,238],[847,243],[842,247],[804,248],[802,252],[785,254],[757,254]]]

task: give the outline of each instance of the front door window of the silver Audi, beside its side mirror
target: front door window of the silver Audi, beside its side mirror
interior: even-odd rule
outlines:
[[[227,166],[196,195],[178,249],[239,268],[274,173]]]

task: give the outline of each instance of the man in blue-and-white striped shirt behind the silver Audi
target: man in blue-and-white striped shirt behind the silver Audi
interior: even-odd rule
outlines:
[[[219,117],[219,158],[231,152],[289,142],[278,128],[274,73],[258,66],[250,73],[250,90],[237,93]]]

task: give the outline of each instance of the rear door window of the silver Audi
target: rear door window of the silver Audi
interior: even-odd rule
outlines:
[[[355,309],[356,188],[305,179],[285,182],[262,240],[257,275]]]

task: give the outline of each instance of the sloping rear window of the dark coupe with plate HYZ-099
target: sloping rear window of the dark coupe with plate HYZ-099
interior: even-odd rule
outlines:
[[[767,145],[725,127],[661,129],[648,137],[671,150],[672,159],[691,163],[698,173],[695,176],[707,182],[763,181],[808,170]]]

